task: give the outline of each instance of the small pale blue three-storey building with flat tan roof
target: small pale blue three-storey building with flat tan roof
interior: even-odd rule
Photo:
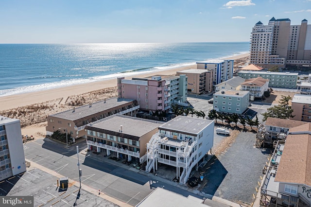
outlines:
[[[248,91],[220,90],[214,93],[213,108],[216,111],[242,114],[248,107]]]

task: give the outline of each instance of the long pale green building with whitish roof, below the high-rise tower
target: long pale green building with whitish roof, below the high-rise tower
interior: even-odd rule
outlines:
[[[250,79],[262,77],[269,80],[269,87],[297,88],[297,72],[270,72],[270,71],[239,71],[238,76]]]

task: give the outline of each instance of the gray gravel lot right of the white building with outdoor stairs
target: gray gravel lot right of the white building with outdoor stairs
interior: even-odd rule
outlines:
[[[214,156],[205,166],[207,185],[202,190],[236,203],[252,203],[258,188],[262,167],[267,161],[266,149],[254,148],[256,134],[238,133],[226,150]]]

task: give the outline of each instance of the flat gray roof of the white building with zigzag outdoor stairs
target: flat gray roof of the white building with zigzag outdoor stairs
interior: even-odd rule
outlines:
[[[212,120],[203,120],[192,117],[178,116],[171,121],[161,125],[159,129],[170,132],[181,132],[184,134],[197,136],[205,127],[213,123]]]

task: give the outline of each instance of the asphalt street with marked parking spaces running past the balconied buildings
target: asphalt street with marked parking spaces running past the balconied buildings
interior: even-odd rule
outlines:
[[[186,197],[192,195],[203,198],[203,196],[162,182],[163,180],[161,179],[153,178],[152,185],[150,185],[149,181],[151,179],[144,175],[144,172],[137,173],[119,165],[103,162],[94,157],[94,155],[84,159],[86,156],[84,155],[86,154],[84,151],[86,149],[85,145],[85,143],[79,144],[80,168],[82,169],[81,182],[91,188],[101,190],[106,195],[131,206],[136,206],[156,187],[161,187]],[[76,145],[67,149],[48,138],[37,139],[24,145],[26,159],[67,176],[72,180],[79,181],[78,159],[75,149]]]

